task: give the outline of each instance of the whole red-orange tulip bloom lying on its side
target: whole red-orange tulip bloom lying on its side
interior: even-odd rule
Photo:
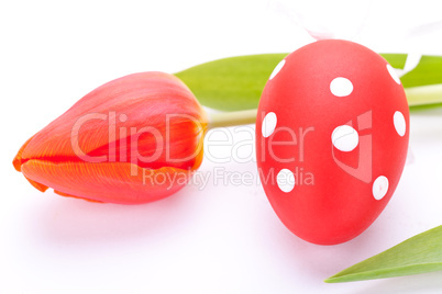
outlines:
[[[146,203],[188,182],[206,129],[205,111],[178,78],[134,74],[79,100],[31,137],[13,165],[42,192]]]

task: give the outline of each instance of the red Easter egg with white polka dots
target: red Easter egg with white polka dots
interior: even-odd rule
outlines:
[[[356,43],[324,39],[288,55],[256,120],[261,181],[294,234],[347,241],[382,213],[399,182],[409,111],[394,68]]]

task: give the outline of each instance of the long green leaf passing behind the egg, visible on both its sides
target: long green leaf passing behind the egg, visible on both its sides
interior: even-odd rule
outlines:
[[[200,103],[221,111],[256,109],[276,65],[287,54],[230,57],[175,74]],[[404,68],[406,54],[382,54],[395,68]],[[422,56],[419,65],[401,77],[409,105],[442,103],[442,56]],[[428,87],[433,86],[433,87]]]

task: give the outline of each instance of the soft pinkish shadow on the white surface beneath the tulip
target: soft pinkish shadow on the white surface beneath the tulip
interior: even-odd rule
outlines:
[[[170,197],[145,205],[98,204],[86,201],[59,199],[34,210],[31,217],[32,233],[45,247],[78,251],[79,248],[106,248],[122,241],[143,239],[143,244],[164,242],[180,227],[198,216],[189,210],[190,191],[184,189]],[[159,237],[162,236],[162,237]],[[176,236],[175,236],[176,237]]]

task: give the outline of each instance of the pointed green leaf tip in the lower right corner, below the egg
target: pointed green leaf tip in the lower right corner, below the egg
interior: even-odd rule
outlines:
[[[356,263],[324,282],[364,281],[441,270],[442,226],[439,226]]]

